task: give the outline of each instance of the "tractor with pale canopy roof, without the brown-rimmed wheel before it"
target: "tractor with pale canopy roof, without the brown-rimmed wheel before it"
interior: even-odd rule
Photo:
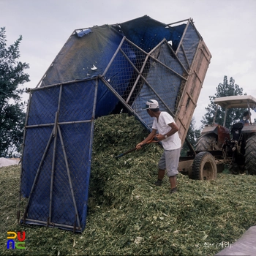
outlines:
[[[256,174],[256,124],[252,123],[250,112],[256,112],[256,98],[249,95],[227,96],[216,98],[214,102],[217,110],[219,106],[225,108],[223,126],[215,124],[216,111],[213,124],[207,125],[197,140],[196,154],[210,153],[218,164],[228,165],[231,173],[245,171]],[[225,127],[229,108],[247,109],[246,116],[233,124],[231,131]]]

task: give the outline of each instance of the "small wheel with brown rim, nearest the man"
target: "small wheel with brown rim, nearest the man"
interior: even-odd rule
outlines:
[[[217,165],[214,156],[206,151],[195,156],[192,164],[192,179],[214,180],[217,178]]]

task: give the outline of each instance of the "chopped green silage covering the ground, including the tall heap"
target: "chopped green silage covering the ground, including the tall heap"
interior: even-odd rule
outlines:
[[[215,181],[194,181],[179,174],[178,193],[170,195],[167,177],[162,187],[153,185],[162,154],[158,144],[115,158],[146,135],[133,116],[97,118],[86,229],[72,234],[26,226],[26,250],[15,253],[214,255],[256,225],[256,176],[218,174]],[[0,168],[2,234],[20,230],[15,224],[19,171],[13,168],[11,176],[7,167]],[[10,255],[0,244],[0,254]]]

